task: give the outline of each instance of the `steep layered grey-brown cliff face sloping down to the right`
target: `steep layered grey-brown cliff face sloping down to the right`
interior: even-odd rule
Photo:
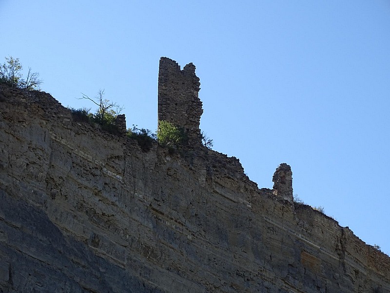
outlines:
[[[390,292],[387,255],[280,190],[0,87],[0,292]]]

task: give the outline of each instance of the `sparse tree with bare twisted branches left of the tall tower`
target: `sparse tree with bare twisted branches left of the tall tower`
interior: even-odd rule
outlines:
[[[96,111],[94,118],[95,121],[101,126],[114,125],[117,115],[124,109],[123,106],[119,106],[110,100],[104,99],[104,89],[99,89],[98,95],[94,99],[91,99],[83,93],[81,94],[82,98],[79,98],[79,100],[90,100],[92,103],[98,106],[98,110]]]

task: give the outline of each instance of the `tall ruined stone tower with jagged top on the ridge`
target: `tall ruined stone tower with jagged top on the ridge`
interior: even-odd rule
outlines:
[[[158,71],[158,121],[168,121],[184,128],[190,146],[201,143],[200,116],[202,102],[198,97],[199,78],[195,65],[189,63],[183,70],[176,61],[161,57]]]

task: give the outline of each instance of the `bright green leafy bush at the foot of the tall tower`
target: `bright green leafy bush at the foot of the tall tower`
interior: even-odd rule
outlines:
[[[184,129],[177,127],[168,121],[159,121],[157,140],[161,146],[178,147],[188,142]]]

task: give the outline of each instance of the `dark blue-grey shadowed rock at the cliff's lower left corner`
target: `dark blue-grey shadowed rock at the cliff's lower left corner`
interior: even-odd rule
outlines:
[[[42,209],[3,190],[0,201],[4,217],[0,230],[7,237],[0,242],[1,290],[161,292],[105,258],[97,257],[90,249],[92,243],[88,245],[64,234]]]

